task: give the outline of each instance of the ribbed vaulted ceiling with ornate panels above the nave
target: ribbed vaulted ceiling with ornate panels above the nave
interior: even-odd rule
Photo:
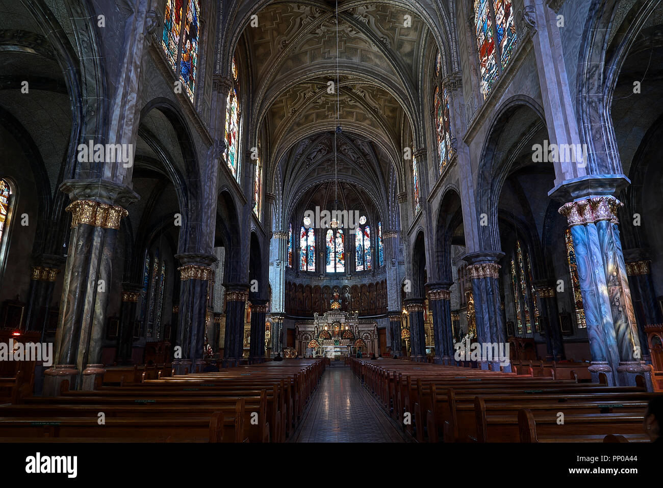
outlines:
[[[418,145],[424,58],[437,52],[414,7],[434,3],[341,0],[337,15],[335,1],[277,1],[255,13],[257,27],[245,27],[250,126],[267,135],[267,177],[279,181],[288,212],[337,175],[387,213],[387,182],[402,173],[402,148]]]

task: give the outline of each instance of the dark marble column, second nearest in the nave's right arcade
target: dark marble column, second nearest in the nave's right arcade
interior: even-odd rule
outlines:
[[[505,348],[507,334],[505,331],[504,315],[501,310],[499,295],[499,269],[497,264],[504,256],[503,252],[477,252],[468,254],[463,258],[468,263],[467,271],[472,281],[472,295],[474,299],[475,317],[477,320],[477,342],[482,346],[491,345],[493,354],[491,358],[481,358],[481,369],[488,369],[491,363],[493,370],[511,371],[509,358],[495,358],[495,346]],[[484,346],[487,348],[487,346]]]

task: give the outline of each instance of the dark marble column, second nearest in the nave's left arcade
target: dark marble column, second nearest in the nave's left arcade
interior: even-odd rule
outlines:
[[[208,287],[213,278],[209,254],[176,254],[180,266],[180,308],[178,313],[178,351],[172,362],[175,374],[202,370],[204,367],[205,326],[207,322]]]

